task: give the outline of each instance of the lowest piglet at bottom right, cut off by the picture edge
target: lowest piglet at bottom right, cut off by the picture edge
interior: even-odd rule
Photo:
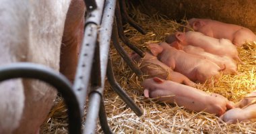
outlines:
[[[220,121],[224,121],[226,123],[250,121],[251,119],[256,119],[256,104],[249,105],[244,109],[230,109],[220,117]]]

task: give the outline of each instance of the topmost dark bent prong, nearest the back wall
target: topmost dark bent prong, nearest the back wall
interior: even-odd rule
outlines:
[[[125,21],[127,21],[132,27],[137,29],[141,34],[143,35],[147,34],[146,30],[144,30],[141,26],[139,26],[139,24],[133,21],[131,17],[129,17],[126,6],[125,6],[125,0],[120,0],[120,9],[121,9],[122,17],[123,19],[125,19]]]

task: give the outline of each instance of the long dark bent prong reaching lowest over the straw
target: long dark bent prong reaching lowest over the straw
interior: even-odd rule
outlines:
[[[128,105],[128,107],[130,107],[131,110],[133,110],[133,112],[138,117],[143,115],[141,109],[139,109],[139,107],[137,107],[137,105],[133,102],[133,100],[131,100],[131,98],[126,94],[126,92],[121,88],[121,86],[119,86],[119,84],[115,80],[110,55],[108,56],[108,70],[106,72],[106,76],[108,77],[108,82],[110,83],[113,90],[115,90],[115,92],[117,92],[117,94],[119,94],[119,96],[122,98],[122,100],[125,101],[125,103]]]

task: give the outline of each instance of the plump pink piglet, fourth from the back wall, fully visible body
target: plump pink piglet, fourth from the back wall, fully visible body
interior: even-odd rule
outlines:
[[[177,42],[172,44],[177,44]],[[212,82],[212,77],[214,77],[214,82],[217,82],[221,76],[220,71],[225,69],[220,68],[210,60],[172,48],[166,42],[162,42],[160,45],[149,44],[149,48],[152,54],[157,56],[161,62],[172,68],[172,70],[184,74],[192,81],[207,81],[210,83]]]

